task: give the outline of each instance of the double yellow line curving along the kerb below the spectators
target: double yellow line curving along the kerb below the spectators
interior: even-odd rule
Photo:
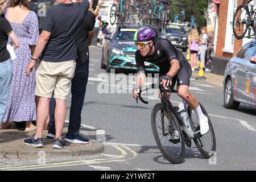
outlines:
[[[125,148],[127,151],[131,152],[131,156],[127,158],[127,152],[123,150],[123,148],[117,145],[111,145],[115,147],[119,152],[120,155],[112,158],[112,159],[91,159],[91,160],[75,160],[71,162],[61,162],[61,163],[51,163],[51,164],[36,164],[36,165],[29,165],[29,166],[18,166],[18,167],[7,167],[7,168],[0,168],[1,171],[18,171],[18,170],[30,170],[30,169],[42,169],[42,168],[53,168],[53,167],[65,167],[65,166],[82,166],[88,164],[99,164],[99,163],[110,163],[110,162],[120,162],[125,160],[133,159],[137,156],[137,153],[131,148],[127,146],[121,146]]]

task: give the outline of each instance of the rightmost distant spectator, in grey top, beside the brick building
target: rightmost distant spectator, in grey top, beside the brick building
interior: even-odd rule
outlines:
[[[210,71],[212,68],[212,50],[213,50],[213,44],[214,44],[214,31],[211,25],[207,26],[207,35],[208,35],[208,41],[207,41],[207,53],[206,53],[206,63],[205,63],[205,71]]]

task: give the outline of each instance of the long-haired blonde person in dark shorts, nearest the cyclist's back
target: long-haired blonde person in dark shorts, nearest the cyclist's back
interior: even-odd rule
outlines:
[[[196,67],[197,53],[199,51],[199,41],[200,41],[199,33],[196,30],[196,28],[193,28],[189,33],[189,43],[188,43],[192,71],[195,71],[195,67]]]

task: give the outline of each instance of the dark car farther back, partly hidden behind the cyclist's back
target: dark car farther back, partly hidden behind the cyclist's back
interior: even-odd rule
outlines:
[[[178,25],[167,27],[167,38],[176,48],[181,48],[183,51],[187,51],[188,38],[183,27]]]

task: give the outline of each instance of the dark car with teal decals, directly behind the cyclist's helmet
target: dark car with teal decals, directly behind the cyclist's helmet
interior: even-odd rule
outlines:
[[[110,72],[110,68],[122,69],[130,72],[137,70],[135,52],[137,47],[133,40],[134,33],[141,27],[135,25],[119,25],[112,34],[105,36],[102,48],[101,68]],[[156,37],[160,34],[157,33]],[[158,73],[159,67],[144,62],[146,72]]]

